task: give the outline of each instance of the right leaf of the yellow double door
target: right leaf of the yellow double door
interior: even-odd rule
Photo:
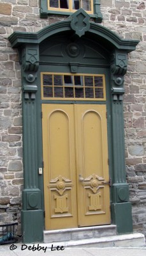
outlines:
[[[75,105],[78,225],[110,223],[105,105]],[[96,223],[96,224],[95,224]]]

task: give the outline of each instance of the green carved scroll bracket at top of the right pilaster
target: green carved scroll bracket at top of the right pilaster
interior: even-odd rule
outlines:
[[[112,76],[112,95],[113,100],[123,100],[124,95],[124,74],[127,71],[127,54],[115,50],[112,54],[111,76]]]

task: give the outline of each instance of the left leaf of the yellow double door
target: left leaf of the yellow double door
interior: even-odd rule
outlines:
[[[73,106],[43,104],[45,227],[77,227]]]

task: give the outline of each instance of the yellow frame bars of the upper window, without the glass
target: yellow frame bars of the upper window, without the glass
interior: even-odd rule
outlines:
[[[74,10],[72,8],[72,0],[68,0],[69,1],[69,8],[68,9],[64,9],[64,8],[55,8],[55,7],[50,7],[50,0],[48,0],[48,10],[49,11],[56,11],[56,12],[77,12],[77,10]],[[85,12],[89,13],[89,14],[93,14],[94,10],[93,10],[93,0],[90,0],[91,1],[91,11],[87,11],[85,10]],[[60,3],[60,2],[59,2]],[[81,7],[82,8],[82,1],[81,1]]]

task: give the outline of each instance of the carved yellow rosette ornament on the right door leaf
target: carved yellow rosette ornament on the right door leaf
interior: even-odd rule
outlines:
[[[84,186],[85,189],[91,189],[95,194],[99,188],[103,188],[105,186],[105,179],[98,177],[98,175],[93,173],[88,178],[85,178],[85,180],[82,182],[82,186]]]

